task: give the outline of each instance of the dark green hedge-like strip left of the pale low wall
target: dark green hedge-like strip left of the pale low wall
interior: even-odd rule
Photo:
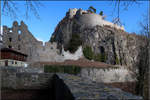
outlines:
[[[77,75],[80,73],[81,67],[74,65],[45,65],[44,72],[46,73],[68,73]]]

